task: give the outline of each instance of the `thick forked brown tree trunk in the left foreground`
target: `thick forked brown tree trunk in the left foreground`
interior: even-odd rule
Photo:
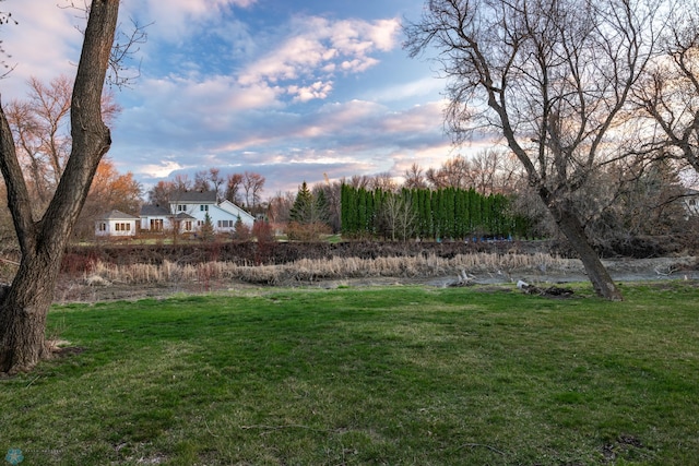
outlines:
[[[49,357],[46,316],[63,251],[111,139],[102,120],[102,92],[114,43],[119,0],[93,0],[71,100],[71,155],[40,220],[17,162],[10,128],[0,108],[0,169],[5,179],[22,259],[0,301],[0,372],[31,370]]]

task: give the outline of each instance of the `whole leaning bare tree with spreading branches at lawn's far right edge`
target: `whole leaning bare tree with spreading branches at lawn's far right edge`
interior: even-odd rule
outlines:
[[[628,96],[652,53],[657,4],[643,0],[428,0],[406,27],[446,76],[457,142],[496,129],[576,249],[595,291],[621,294],[585,236],[573,193],[625,147]]]

